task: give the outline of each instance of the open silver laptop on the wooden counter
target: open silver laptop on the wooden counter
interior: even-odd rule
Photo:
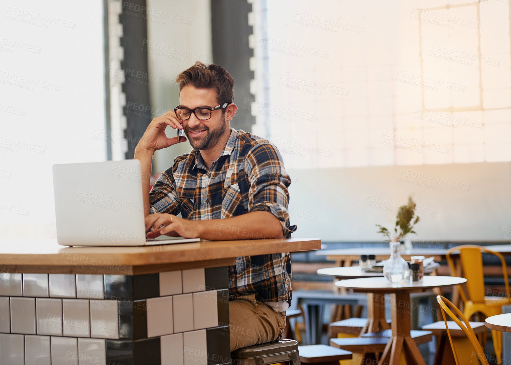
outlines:
[[[140,161],[53,165],[57,241],[64,246],[147,246],[197,242],[146,239]]]

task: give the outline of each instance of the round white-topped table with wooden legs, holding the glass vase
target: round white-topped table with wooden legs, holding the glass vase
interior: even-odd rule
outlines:
[[[426,365],[419,348],[410,336],[410,312],[419,310],[411,308],[410,293],[421,292],[436,287],[448,287],[466,283],[467,279],[454,276],[424,276],[422,282],[391,283],[385,277],[364,277],[341,280],[336,286],[353,289],[356,292],[372,293],[376,296],[391,294],[391,329],[392,336],[385,346],[379,365],[399,365],[401,354],[404,353],[407,364]]]

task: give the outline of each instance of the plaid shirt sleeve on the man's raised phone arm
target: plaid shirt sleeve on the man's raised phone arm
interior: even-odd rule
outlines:
[[[149,192],[149,212],[178,214],[179,200],[172,169],[162,172]]]

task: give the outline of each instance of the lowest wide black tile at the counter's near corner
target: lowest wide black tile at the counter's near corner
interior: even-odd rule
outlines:
[[[160,338],[106,340],[106,365],[159,365]]]

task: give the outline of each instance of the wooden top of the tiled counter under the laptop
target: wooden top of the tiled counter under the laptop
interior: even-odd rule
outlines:
[[[0,240],[0,273],[135,275],[233,265],[237,256],[320,249],[319,239],[206,241],[129,247],[67,247],[57,240]]]

